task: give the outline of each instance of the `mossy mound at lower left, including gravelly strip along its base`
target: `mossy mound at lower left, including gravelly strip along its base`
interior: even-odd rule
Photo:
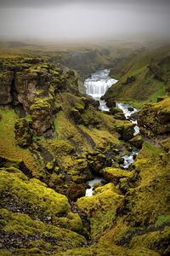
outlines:
[[[65,195],[49,189],[37,179],[28,179],[16,169],[1,169],[1,207],[28,214],[44,223],[82,232],[81,218],[71,212]],[[12,204],[12,205],[11,205]]]

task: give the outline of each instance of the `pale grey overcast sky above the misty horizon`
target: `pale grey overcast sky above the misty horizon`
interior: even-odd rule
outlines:
[[[170,0],[0,0],[0,39],[170,37]]]

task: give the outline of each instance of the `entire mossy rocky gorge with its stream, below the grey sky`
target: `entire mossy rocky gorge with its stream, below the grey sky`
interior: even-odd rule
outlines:
[[[8,45],[0,254],[167,256],[169,44]]]

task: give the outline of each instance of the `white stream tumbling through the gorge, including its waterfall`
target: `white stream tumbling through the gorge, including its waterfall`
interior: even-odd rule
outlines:
[[[99,101],[99,109],[101,111],[110,111],[110,108],[106,106],[105,100],[101,100],[100,97],[105,95],[105,92],[111,87],[111,85],[116,84],[116,79],[111,79],[109,76],[110,69],[100,70],[96,73],[93,73],[88,79],[84,81],[86,87],[86,94],[92,96],[94,100]],[[137,125],[136,113],[139,112],[138,109],[133,108],[132,106],[125,103],[116,103],[116,108],[121,108],[126,119],[130,120],[133,124],[136,124],[134,127],[134,136],[139,133],[139,127]],[[124,162],[120,165],[122,168],[127,169],[130,166],[136,155],[139,154],[140,150],[133,151],[130,155],[122,156]],[[102,183],[105,180],[102,177],[94,177],[93,180],[88,181],[89,189],[86,189],[86,196],[92,196],[95,183]]]

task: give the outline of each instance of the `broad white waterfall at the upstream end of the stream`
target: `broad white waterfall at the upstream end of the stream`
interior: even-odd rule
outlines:
[[[108,90],[112,84],[116,84],[116,79],[111,79],[109,77],[110,70],[105,69],[93,73],[90,78],[86,79],[84,85],[87,90],[86,93],[89,96],[92,96],[94,100],[99,101],[99,109],[102,111],[109,111],[105,101],[100,100],[101,96],[105,95],[106,90]]]

